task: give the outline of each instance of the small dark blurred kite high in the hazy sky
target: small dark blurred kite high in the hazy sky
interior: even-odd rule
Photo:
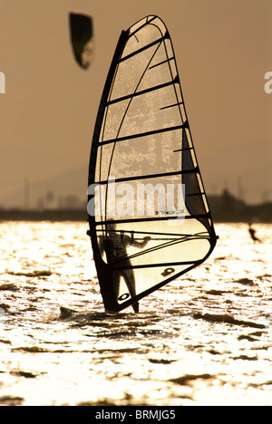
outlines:
[[[69,22],[74,58],[83,69],[87,69],[93,60],[92,17],[88,14],[71,12]]]

